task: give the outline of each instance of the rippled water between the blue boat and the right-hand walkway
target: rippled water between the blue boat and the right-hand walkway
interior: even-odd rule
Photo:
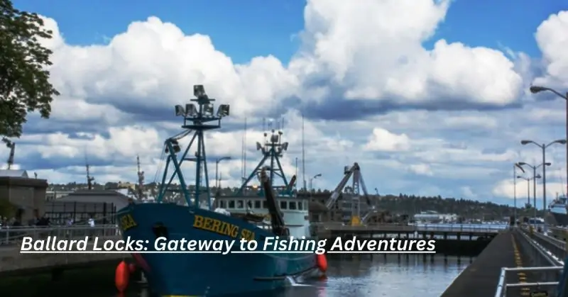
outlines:
[[[343,255],[328,259],[327,279],[299,279],[283,291],[263,292],[258,297],[439,297],[471,261],[431,255],[376,255],[372,259],[366,255]],[[151,296],[143,288],[136,293]]]

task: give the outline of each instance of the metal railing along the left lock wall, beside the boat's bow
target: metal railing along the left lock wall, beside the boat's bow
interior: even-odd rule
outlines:
[[[57,236],[64,238],[84,238],[84,237],[119,237],[120,230],[116,225],[71,225],[71,226],[26,226],[11,227],[0,229],[0,247],[18,245],[23,237],[33,237],[34,239]]]

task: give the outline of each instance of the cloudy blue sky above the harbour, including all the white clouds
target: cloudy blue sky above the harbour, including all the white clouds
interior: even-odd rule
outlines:
[[[21,167],[56,182],[82,181],[85,151],[99,181],[136,179],[136,154],[153,176],[178,125],[171,106],[192,84],[233,106],[208,140],[210,155],[234,157],[220,169],[229,185],[241,175],[245,117],[255,139],[262,118],[284,116],[293,172],[303,113],[306,176],[322,173],[317,187],[337,184],[337,163],[359,162],[381,193],[499,203],[512,201],[513,162],[539,158],[520,139],[565,137],[563,102],[527,92],[534,83],[568,89],[565,1],[14,4],[57,26],[48,46],[62,96],[50,124],[32,118],[18,140]],[[250,167],[254,142],[247,150]],[[566,188],[566,159],[562,147],[548,154],[550,197]]]

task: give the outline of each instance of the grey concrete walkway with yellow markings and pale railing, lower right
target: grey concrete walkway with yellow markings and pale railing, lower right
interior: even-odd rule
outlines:
[[[530,228],[499,233],[442,293],[464,296],[556,296],[566,243]]]

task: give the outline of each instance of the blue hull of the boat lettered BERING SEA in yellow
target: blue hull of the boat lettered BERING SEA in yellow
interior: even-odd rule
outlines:
[[[222,235],[195,228],[196,215],[197,219],[209,218],[207,228],[219,220],[239,231],[217,226],[217,231],[228,234]],[[260,247],[265,237],[274,236],[240,218],[167,203],[132,204],[119,211],[118,218],[125,240],[143,240],[148,251],[155,250],[154,242],[160,236],[156,225],[167,230],[168,240],[237,240],[232,250],[239,249],[242,230],[252,231],[253,235],[249,235]],[[136,253],[133,258],[145,272],[151,290],[160,296],[222,296],[273,290],[286,285],[286,276],[317,267],[315,254]]]

